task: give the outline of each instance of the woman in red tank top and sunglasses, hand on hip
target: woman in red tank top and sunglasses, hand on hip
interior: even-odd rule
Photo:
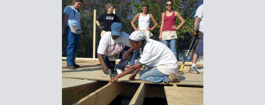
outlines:
[[[170,43],[170,49],[173,51],[174,55],[177,58],[176,39],[178,37],[176,34],[176,30],[178,30],[185,23],[185,20],[177,11],[174,11],[172,0],[168,0],[166,2],[166,7],[167,11],[162,14],[159,39],[162,39],[163,43],[166,46],[168,45],[168,42]],[[176,17],[178,17],[181,21],[178,27],[175,26]]]

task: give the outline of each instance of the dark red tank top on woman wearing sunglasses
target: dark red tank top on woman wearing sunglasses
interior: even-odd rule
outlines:
[[[164,16],[164,27],[163,31],[175,31],[175,29],[172,29],[172,25],[175,25],[176,23],[176,16],[175,16],[175,11],[173,11],[173,14],[171,16]]]

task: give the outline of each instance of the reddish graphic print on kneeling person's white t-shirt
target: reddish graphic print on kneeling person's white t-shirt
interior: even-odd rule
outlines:
[[[111,56],[117,55],[124,49],[124,44],[122,42],[114,43],[113,45],[108,45],[106,49],[106,55],[111,54]]]

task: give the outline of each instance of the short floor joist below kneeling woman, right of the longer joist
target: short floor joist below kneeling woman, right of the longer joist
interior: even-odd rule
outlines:
[[[129,105],[142,105],[144,102],[146,88],[147,88],[147,84],[141,83],[138,90],[134,94],[131,102],[129,103]]]

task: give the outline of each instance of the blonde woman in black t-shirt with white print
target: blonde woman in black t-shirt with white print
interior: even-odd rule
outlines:
[[[111,25],[114,22],[118,22],[121,23],[120,19],[117,17],[117,15],[113,14],[113,10],[114,10],[114,5],[113,4],[107,4],[107,12],[102,14],[96,21],[98,27],[101,30],[101,34],[100,36],[102,37],[104,33],[108,32],[111,30]],[[102,23],[102,27],[100,25],[100,23]]]

